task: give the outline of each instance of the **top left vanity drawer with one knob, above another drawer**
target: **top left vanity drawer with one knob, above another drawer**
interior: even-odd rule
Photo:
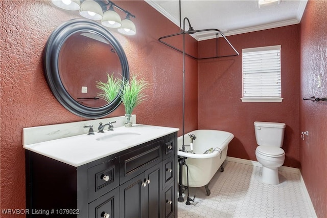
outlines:
[[[87,174],[88,200],[91,202],[119,185],[119,159],[91,167]]]

